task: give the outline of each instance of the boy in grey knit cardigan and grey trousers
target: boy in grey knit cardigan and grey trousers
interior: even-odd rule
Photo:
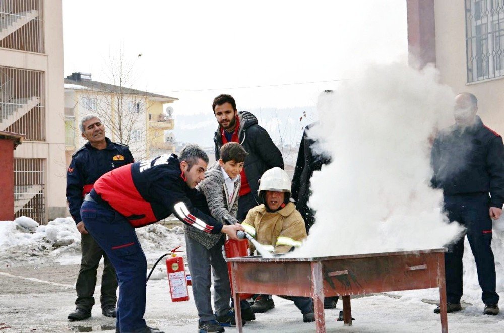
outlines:
[[[240,190],[240,172],[247,152],[238,143],[230,142],[222,146],[220,159],[205,172],[205,179],[197,189],[204,194],[212,216],[226,224],[227,221],[239,222],[238,193]],[[193,296],[198,309],[198,331],[224,332],[222,326],[235,326],[234,313],[230,311],[229,300],[231,287],[226,260],[222,256],[222,246],[226,241],[223,234],[209,234],[196,228],[185,229],[187,261],[191,272]],[[212,311],[210,286],[212,284],[210,268],[214,280],[214,307]],[[254,320],[250,305],[242,309],[243,320]],[[245,322],[243,321],[243,324]]]

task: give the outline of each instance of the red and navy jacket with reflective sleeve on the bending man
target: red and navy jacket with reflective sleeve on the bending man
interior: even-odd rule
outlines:
[[[155,223],[172,213],[182,222],[217,234],[222,223],[196,208],[198,191],[185,182],[175,154],[135,162],[98,179],[90,195],[126,217],[135,228]]]

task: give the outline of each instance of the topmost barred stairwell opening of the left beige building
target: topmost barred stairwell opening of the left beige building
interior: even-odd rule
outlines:
[[[0,1],[0,47],[44,53],[43,0]]]

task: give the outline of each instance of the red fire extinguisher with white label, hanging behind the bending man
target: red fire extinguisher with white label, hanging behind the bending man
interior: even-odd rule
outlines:
[[[189,291],[185,280],[184,259],[176,255],[177,249],[171,250],[171,255],[166,259],[166,269],[168,270],[168,282],[170,284],[170,296],[172,302],[189,300]]]

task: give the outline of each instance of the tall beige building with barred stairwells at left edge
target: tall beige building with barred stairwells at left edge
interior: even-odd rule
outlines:
[[[0,131],[14,151],[14,216],[65,216],[61,0],[0,2]]]

